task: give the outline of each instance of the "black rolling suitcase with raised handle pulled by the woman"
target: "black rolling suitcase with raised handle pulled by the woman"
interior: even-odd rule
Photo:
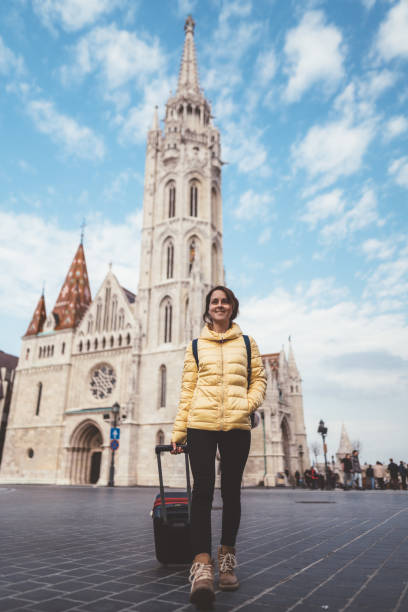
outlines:
[[[173,449],[170,444],[156,446],[157,467],[159,470],[160,493],[153,504],[153,531],[156,557],[160,563],[191,563],[190,511],[191,485],[188,465],[187,446],[183,446],[186,463],[187,491],[164,492],[161,466],[162,452]]]

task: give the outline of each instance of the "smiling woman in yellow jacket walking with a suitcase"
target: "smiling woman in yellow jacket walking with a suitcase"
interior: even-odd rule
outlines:
[[[223,500],[221,545],[218,549],[222,590],[239,587],[235,540],[241,518],[241,481],[251,444],[250,414],[265,396],[266,376],[254,340],[251,380],[242,332],[233,320],[238,300],[226,287],[212,289],[205,302],[205,327],[198,339],[198,367],[192,345],[186,350],[181,397],[173,428],[173,453],[187,441],[194,478],[191,506],[193,564],[190,601],[197,607],[214,601],[211,560],[211,505],[217,447],[221,457]]]

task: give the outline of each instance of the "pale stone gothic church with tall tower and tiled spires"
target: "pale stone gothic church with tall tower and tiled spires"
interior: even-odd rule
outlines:
[[[104,486],[114,465],[116,485],[157,484],[154,447],[170,441],[186,345],[199,335],[206,293],[224,282],[221,139],[199,84],[194,28],[188,17],[164,127],[156,108],[147,134],[137,293],[109,269],[92,299],[81,239],[56,304],[47,313],[41,295],[22,339],[2,483]],[[293,349],[263,361],[267,395],[244,486],[274,486],[278,472],[310,465]],[[165,462],[179,485],[183,466]]]

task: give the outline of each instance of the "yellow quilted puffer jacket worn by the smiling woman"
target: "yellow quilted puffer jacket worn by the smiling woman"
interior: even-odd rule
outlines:
[[[249,389],[247,352],[236,323],[225,334],[204,327],[198,339],[198,371],[189,343],[172,442],[185,442],[188,427],[210,431],[251,429],[249,415],[263,402],[266,376],[256,342],[252,338],[250,341]]]

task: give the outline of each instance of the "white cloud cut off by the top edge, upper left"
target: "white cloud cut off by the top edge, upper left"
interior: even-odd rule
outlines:
[[[80,30],[123,4],[122,0],[33,0],[33,8],[50,29]]]

